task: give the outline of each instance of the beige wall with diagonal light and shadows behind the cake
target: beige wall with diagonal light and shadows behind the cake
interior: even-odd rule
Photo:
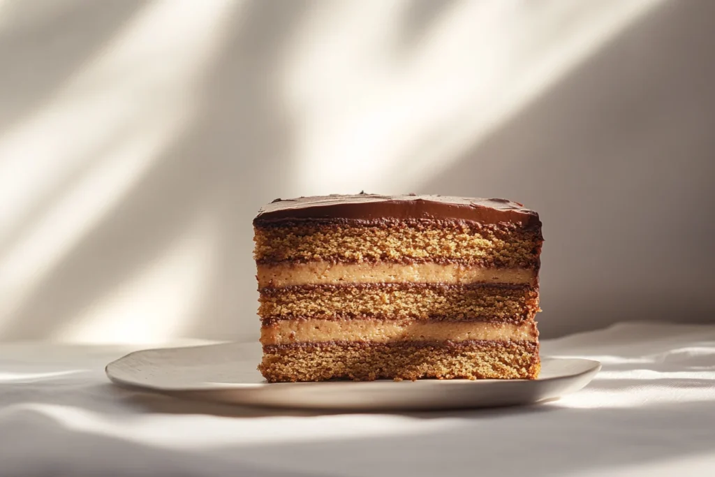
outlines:
[[[275,197],[541,213],[542,334],[712,321],[715,2],[0,0],[0,339],[257,337]]]

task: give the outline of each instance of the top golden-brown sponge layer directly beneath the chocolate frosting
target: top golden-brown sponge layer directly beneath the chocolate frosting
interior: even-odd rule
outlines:
[[[257,262],[458,261],[484,267],[538,267],[541,231],[513,224],[405,220],[307,222],[255,227]]]

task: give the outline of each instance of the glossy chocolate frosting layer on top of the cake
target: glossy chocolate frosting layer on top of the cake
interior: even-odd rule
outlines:
[[[327,195],[276,199],[262,207],[254,224],[310,219],[433,219],[470,220],[485,224],[513,222],[541,227],[538,214],[506,199],[476,199],[442,195]]]

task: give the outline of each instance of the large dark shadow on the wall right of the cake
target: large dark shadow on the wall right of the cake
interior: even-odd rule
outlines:
[[[420,187],[540,212],[545,337],[715,319],[714,28],[666,2]]]

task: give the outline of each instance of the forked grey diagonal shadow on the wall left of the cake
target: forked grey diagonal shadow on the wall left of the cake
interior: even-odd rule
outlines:
[[[192,123],[117,209],[108,211],[36,286],[7,325],[6,338],[47,337],[73,323],[202,215],[217,224],[220,259],[193,317],[197,327],[186,333],[225,337],[245,323],[239,320],[244,308],[255,315],[250,220],[265,199],[254,178],[272,177],[279,189],[289,179],[281,165],[290,153],[290,132],[275,72],[306,8],[300,2],[260,1],[244,8],[206,76]],[[250,287],[244,277],[250,277]]]

